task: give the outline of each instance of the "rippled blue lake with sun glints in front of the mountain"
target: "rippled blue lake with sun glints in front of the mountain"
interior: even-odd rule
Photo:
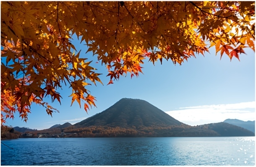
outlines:
[[[255,137],[2,140],[1,165],[255,165]]]

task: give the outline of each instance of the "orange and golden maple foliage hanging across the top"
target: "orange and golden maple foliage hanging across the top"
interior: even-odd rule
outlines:
[[[1,123],[30,105],[57,111],[57,89],[72,88],[72,101],[95,106],[86,86],[102,83],[99,73],[76,50],[73,38],[106,66],[110,83],[128,72],[138,76],[145,58],[183,63],[208,52],[239,59],[255,50],[255,2],[1,2]]]

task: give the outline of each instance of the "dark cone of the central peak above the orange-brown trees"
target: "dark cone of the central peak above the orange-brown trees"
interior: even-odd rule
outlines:
[[[123,98],[110,108],[91,116],[75,126],[108,126],[108,127],[167,127],[183,125],[164,111],[147,101]]]

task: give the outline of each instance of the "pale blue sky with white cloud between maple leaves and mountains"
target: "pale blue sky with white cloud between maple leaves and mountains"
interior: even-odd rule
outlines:
[[[76,39],[76,38],[74,38]],[[240,61],[223,55],[215,56],[215,48],[204,56],[189,58],[181,66],[172,61],[153,63],[144,61],[143,73],[131,79],[130,74],[120,77],[119,81],[107,85],[109,77],[107,69],[96,63],[97,56],[86,46],[76,42],[76,50],[80,55],[94,60],[91,66],[97,68],[97,73],[104,85],[97,83],[86,88],[96,97],[96,107],[88,111],[80,109],[75,101],[71,106],[72,90],[63,86],[59,90],[63,99],[61,105],[55,101],[52,106],[60,113],[48,116],[43,107],[33,104],[29,120],[24,122],[18,116],[7,119],[5,125],[13,127],[29,127],[31,129],[47,129],[55,124],[71,124],[82,121],[94,114],[104,111],[122,98],[143,99],[167,112],[170,116],[189,125],[199,125],[224,121],[225,119],[255,120],[255,53],[246,49],[246,54],[240,55]],[[86,53],[86,54],[85,54]],[[51,99],[46,99],[51,103]]]

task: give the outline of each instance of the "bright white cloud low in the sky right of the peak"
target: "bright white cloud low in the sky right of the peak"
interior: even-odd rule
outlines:
[[[181,107],[167,114],[192,126],[222,122],[225,119],[255,120],[255,101],[237,104],[219,104]]]

